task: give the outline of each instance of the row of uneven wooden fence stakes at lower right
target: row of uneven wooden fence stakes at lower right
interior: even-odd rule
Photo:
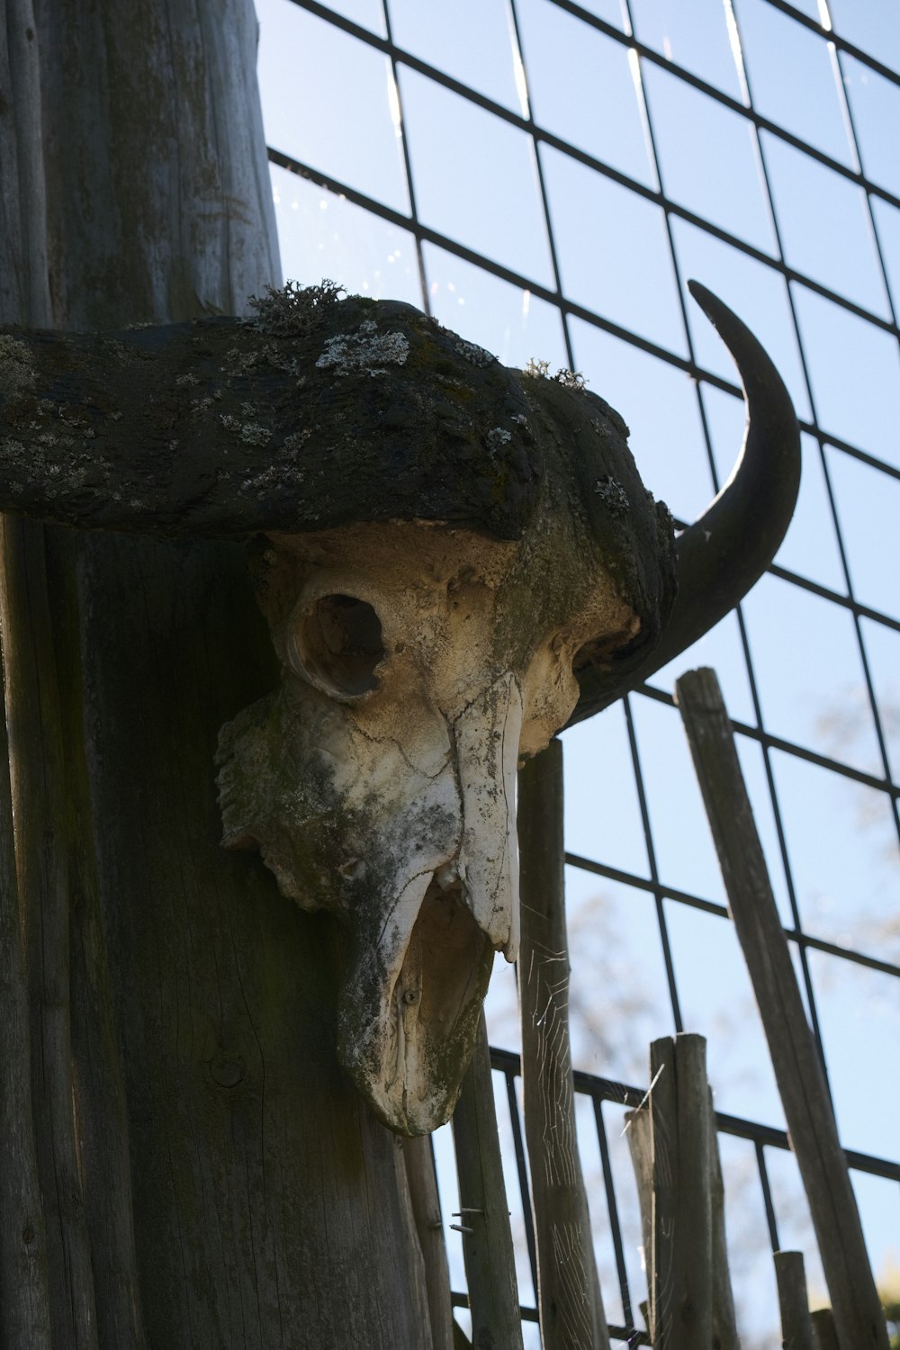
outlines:
[[[775,1253],[785,1350],[889,1350],[862,1226],[815,1040],[797,988],[762,848],[715,674],[676,684],[694,764],[762,1018],[791,1146],[810,1203],[831,1308],[810,1312],[803,1256]],[[588,1203],[575,1134],[563,892],[563,761],[555,741],[519,774],[522,1091],[530,1158],[537,1301],[544,1350],[607,1350]],[[654,1350],[738,1350],[725,1238],[725,1195],[702,1035],[654,1041],[650,1089],[627,1114],[648,1268],[644,1332]],[[453,1120],[459,1224],[476,1350],[522,1346],[513,1238],[503,1188],[487,1037]],[[412,1152],[412,1146],[410,1146]],[[407,1169],[410,1160],[407,1157]],[[421,1157],[420,1157],[421,1166]],[[422,1184],[418,1185],[420,1193]],[[428,1206],[422,1207],[424,1211]],[[424,1250],[434,1246],[417,1219]],[[430,1242],[430,1246],[428,1246]],[[447,1262],[432,1257],[440,1312],[434,1350],[468,1345],[447,1332]],[[428,1261],[426,1261],[428,1265]],[[437,1274],[433,1272],[437,1270]],[[429,1285],[430,1291],[430,1285]],[[429,1293],[430,1297],[430,1293]],[[444,1330],[437,1330],[437,1326]],[[773,1347],[775,1350],[775,1347]]]

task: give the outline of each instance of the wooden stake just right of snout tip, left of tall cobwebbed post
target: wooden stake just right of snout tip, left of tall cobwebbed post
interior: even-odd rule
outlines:
[[[453,1114],[453,1143],[472,1345],[478,1350],[521,1350],[515,1254],[497,1133],[484,1014],[480,1018],[475,1054],[466,1071]]]

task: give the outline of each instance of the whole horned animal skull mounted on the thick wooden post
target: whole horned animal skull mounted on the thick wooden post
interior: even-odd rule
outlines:
[[[690,286],[748,432],[677,560],[602,398],[399,301],[289,284],[250,320],[0,332],[0,509],[262,540],[282,680],[221,732],[225,844],[344,919],[339,1053],[395,1130],[447,1118],[493,953],[515,953],[519,757],[726,614],[791,520],[784,385]]]

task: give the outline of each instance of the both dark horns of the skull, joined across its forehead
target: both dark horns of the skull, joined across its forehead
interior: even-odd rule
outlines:
[[[625,641],[599,633],[576,655],[576,722],[737,605],[796,501],[784,385],[741,320],[690,286],[738,366],[748,431],[731,478],[679,540],[673,608],[671,517],[602,398],[575,377],[507,370],[399,301],[339,300],[329,282],[271,292],[251,320],[0,331],[0,510],[162,536],[429,520],[522,540],[553,500],[633,610]]]

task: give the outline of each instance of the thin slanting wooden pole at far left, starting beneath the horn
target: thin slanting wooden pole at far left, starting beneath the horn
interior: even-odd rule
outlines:
[[[31,1100],[47,1234],[54,1343],[97,1350],[90,1234],[80,1164],[72,1046],[72,801],[45,535],[3,526],[3,620],[16,871],[24,900]]]

